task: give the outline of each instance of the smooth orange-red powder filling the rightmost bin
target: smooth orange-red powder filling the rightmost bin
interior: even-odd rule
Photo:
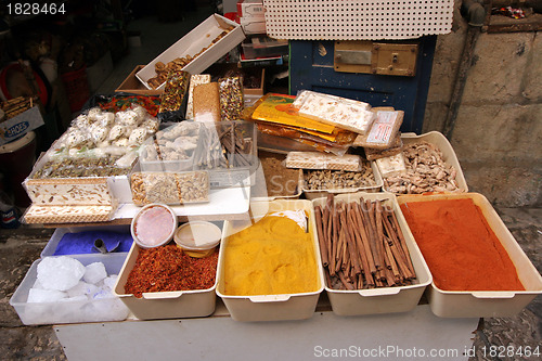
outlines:
[[[410,202],[401,210],[440,289],[525,289],[473,199]]]

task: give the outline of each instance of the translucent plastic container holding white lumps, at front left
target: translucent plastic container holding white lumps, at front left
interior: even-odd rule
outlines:
[[[77,255],[70,256],[83,266],[102,262],[107,274],[118,274],[127,254],[115,255]],[[102,298],[80,301],[27,302],[28,293],[37,280],[37,269],[41,259],[34,261],[23,282],[10,299],[21,321],[26,325],[59,324],[79,322],[122,321],[129,310],[116,298]]]

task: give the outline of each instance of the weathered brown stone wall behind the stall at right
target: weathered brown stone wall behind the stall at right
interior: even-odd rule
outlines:
[[[439,36],[424,132],[442,131],[466,22]],[[469,191],[499,206],[542,206],[542,35],[478,37],[450,139]]]

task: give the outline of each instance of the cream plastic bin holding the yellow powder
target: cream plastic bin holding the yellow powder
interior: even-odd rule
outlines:
[[[264,296],[229,296],[223,294],[223,250],[228,247],[228,235],[233,234],[250,224],[224,222],[222,243],[217,269],[217,295],[222,298],[228,311],[235,321],[280,321],[280,320],[304,320],[309,319],[315,311],[318,298],[324,289],[324,275],[320,249],[317,240],[317,228],[314,223],[314,209],[312,204],[306,199],[276,199],[272,202],[253,202],[250,210],[254,219],[259,219],[270,211],[304,209],[309,215],[309,233],[313,240],[314,256],[318,265],[320,287],[315,292]]]

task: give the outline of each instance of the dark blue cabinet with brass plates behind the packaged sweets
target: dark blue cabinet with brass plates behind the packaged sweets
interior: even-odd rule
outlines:
[[[334,68],[334,41],[289,42],[289,93],[307,89],[356,99],[372,106],[404,112],[401,131],[422,131],[437,36],[409,40],[418,44],[414,76],[339,73]]]

